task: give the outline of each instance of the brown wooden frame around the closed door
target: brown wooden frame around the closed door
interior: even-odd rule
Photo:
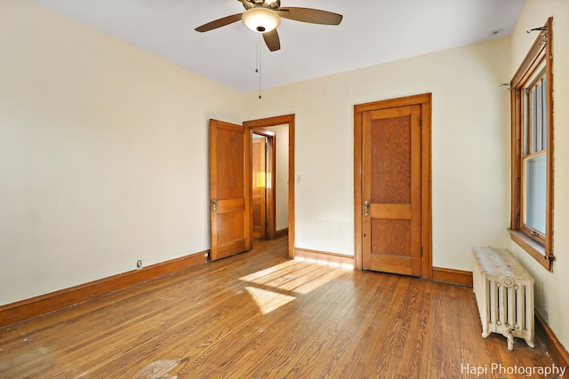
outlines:
[[[432,279],[431,97],[431,93],[424,93],[354,106],[354,257],[357,270],[362,270],[364,254],[363,114],[378,109],[421,105],[421,278]]]

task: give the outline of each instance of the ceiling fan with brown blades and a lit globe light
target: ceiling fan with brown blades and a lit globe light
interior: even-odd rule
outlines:
[[[309,22],[311,24],[339,25],[342,16],[338,13],[321,11],[312,8],[287,7],[281,8],[280,0],[237,0],[243,4],[245,12],[232,14],[219,20],[213,20],[197,27],[198,32],[225,27],[238,20],[242,20],[247,28],[263,35],[268,50],[277,51],[281,48],[281,42],[276,32],[276,27],[281,23],[281,18]]]

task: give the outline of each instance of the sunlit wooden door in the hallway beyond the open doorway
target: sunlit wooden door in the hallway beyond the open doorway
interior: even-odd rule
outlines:
[[[252,138],[252,237],[267,238],[267,138]]]

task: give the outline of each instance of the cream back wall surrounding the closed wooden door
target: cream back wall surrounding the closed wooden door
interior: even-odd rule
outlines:
[[[433,264],[471,270],[508,241],[509,37],[245,97],[246,119],[296,114],[296,247],[354,253],[353,107],[433,94]]]

